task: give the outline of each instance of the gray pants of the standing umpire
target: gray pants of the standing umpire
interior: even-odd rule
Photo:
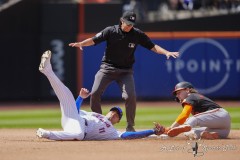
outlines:
[[[116,69],[102,65],[95,75],[90,98],[91,109],[93,112],[102,114],[101,96],[113,81],[117,82],[122,91],[122,98],[125,100],[127,123],[134,126],[136,93],[132,69]]]

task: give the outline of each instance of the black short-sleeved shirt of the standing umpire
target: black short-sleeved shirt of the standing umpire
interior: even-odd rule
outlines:
[[[93,37],[93,41],[95,45],[107,42],[102,63],[120,69],[132,68],[138,44],[149,50],[154,47],[150,38],[141,30],[133,27],[129,32],[124,32],[119,25],[105,28]]]

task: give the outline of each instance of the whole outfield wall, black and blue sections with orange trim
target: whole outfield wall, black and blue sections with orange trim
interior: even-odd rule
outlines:
[[[24,0],[1,10],[0,102],[57,100],[38,71],[41,54],[48,49],[53,52],[54,71],[74,96],[82,86],[91,89],[104,44],[85,47],[83,54],[68,44],[117,24],[122,6],[60,1]],[[138,47],[134,65],[138,97],[170,99],[175,83],[188,80],[212,98],[239,99],[239,16],[138,23],[155,43],[182,52],[179,59],[166,61],[164,56]],[[198,32],[189,32],[193,30]],[[106,99],[120,97],[114,84],[104,93]]]

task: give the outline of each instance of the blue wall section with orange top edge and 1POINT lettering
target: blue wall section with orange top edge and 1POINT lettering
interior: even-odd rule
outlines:
[[[165,56],[139,46],[134,65],[138,98],[169,99],[179,81],[193,83],[201,93],[212,98],[240,98],[240,32],[147,34],[154,43],[170,51],[180,51],[180,57],[166,60]],[[84,48],[83,86],[87,88],[93,84],[105,45]],[[106,90],[104,97],[121,97],[116,83]]]

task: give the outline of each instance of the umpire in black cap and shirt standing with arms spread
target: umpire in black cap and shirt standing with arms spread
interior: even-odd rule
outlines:
[[[136,14],[132,11],[123,13],[119,25],[106,27],[94,37],[82,42],[70,43],[71,47],[97,45],[106,41],[106,49],[102,58],[100,70],[95,75],[92,87],[90,106],[93,112],[102,114],[101,96],[108,85],[116,81],[125,100],[127,128],[126,131],[135,131],[134,119],[136,114],[136,93],[133,78],[134,52],[137,45],[141,45],[157,54],[178,57],[178,52],[169,52],[154,44],[141,30],[134,27]]]

